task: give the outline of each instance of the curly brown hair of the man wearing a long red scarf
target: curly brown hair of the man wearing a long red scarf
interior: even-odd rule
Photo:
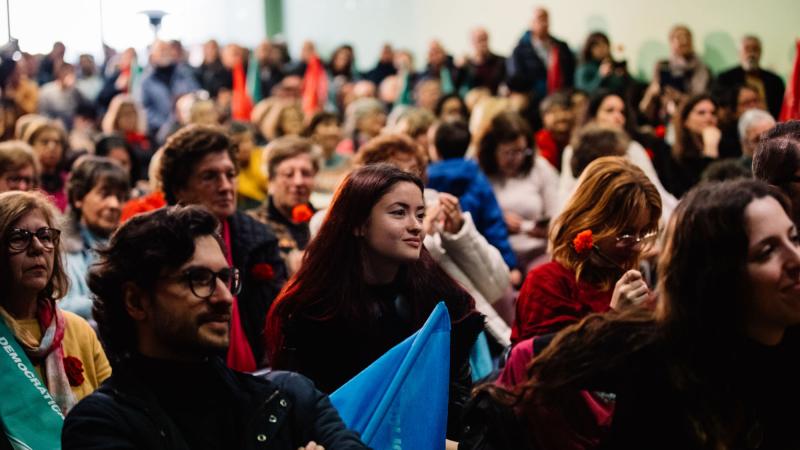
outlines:
[[[167,203],[178,202],[175,192],[186,187],[201,159],[220,152],[227,152],[236,164],[236,147],[220,127],[188,125],[170,136],[161,157],[161,183]]]

